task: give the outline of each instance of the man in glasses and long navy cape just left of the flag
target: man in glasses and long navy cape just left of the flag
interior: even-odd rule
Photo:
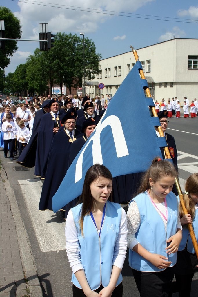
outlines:
[[[69,152],[77,141],[76,138],[81,135],[74,129],[76,116],[75,111],[67,112],[61,121],[64,124],[64,129],[59,130],[54,135],[47,163],[46,177],[42,187],[39,210],[52,210],[52,197],[67,172]],[[67,124],[68,122],[70,124]],[[69,132],[72,132],[72,137],[69,135]]]

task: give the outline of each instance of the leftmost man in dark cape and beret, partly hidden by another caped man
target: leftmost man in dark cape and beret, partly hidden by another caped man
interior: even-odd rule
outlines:
[[[41,105],[42,109],[35,113],[31,138],[16,161],[24,167],[32,168],[35,166],[39,125],[42,116],[50,112],[49,103],[50,100],[45,100]]]

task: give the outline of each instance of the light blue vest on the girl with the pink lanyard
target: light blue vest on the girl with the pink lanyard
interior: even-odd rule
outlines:
[[[165,248],[168,246],[166,240],[177,231],[178,200],[175,194],[170,192],[166,196],[168,211],[167,228],[165,228],[160,214],[146,192],[137,195],[133,200],[137,204],[140,213],[140,227],[135,234],[137,241],[152,254],[168,257],[167,261],[172,262],[170,266],[174,266],[177,254],[168,255]],[[159,272],[164,270],[164,268],[157,268],[131,249],[129,249],[129,266],[138,271]]]

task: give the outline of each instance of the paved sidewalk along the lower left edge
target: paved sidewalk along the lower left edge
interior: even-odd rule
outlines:
[[[0,169],[0,297],[42,297],[14,192]]]

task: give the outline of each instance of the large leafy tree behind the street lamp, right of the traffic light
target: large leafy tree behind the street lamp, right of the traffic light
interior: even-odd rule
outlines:
[[[84,75],[83,39],[77,34],[58,33],[53,50],[54,78],[65,83],[71,93],[72,87],[82,85]],[[99,73],[101,54],[96,53],[94,42],[85,38],[85,78],[90,80]]]

